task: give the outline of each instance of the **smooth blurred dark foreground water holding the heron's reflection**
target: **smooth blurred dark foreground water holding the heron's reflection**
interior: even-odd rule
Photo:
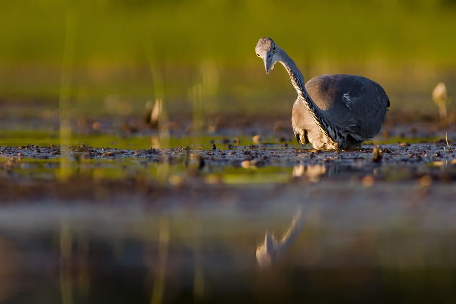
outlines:
[[[2,299],[454,300],[454,187],[118,188],[4,204]]]

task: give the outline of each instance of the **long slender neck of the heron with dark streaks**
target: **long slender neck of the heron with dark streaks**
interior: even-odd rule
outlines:
[[[284,50],[278,48],[278,53],[280,58],[278,61],[282,63],[290,75],[291,84],[296,90],[299,98],[306,106],[307,110],[312,116],[312,119],[317,124],[326,140],[328,142],[336,144],[328,133],[328,131],[331,131],[328,130],[331,128],[331,124],[329,124],[328,121],[323,117],[321,109],[315,104],[315,102],[312,100],[312,97],[307,92],[306,87],[304,86],[304,77],[302,76],[299,68],[296,66],[296,63],[294,63],[293,59],[291,59]],[[323,127],[323,125],[325,127]]]

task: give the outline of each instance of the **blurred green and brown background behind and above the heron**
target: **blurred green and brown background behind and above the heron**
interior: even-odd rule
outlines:
[[[456,1],[2,1],[0,102],[96,115],[278,113],[296,93],[254,47],[271,36],[306,80],[362,74],[392,110],[437,113],[437,82],[456,87]],[[63,90],[62,90],[63,86]],[[454,109],[454,103],[450,104]]]

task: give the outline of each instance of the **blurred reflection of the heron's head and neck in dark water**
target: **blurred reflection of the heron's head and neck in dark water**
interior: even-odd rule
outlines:
[[[269,232],[264,237],[264,243],[256,249],[256,260],[260,267],[269,267],[274,264],[293,244],[297,235],[302,229],[301,210],[298,209],[290,227],[282,240],[277,241],[274,235]]]

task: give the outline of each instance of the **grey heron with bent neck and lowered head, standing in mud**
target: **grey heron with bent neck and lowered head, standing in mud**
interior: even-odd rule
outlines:
[[[291,123],[299,143],[310,142],[319,150],[350,149],[380,131],[390,100],[376,82],[357,75],[326,74],[303,85],[304,77],[293,59],[271,38],[261,38],[255,51],[266,73],[280,62],[290,75],[298,94]]]

